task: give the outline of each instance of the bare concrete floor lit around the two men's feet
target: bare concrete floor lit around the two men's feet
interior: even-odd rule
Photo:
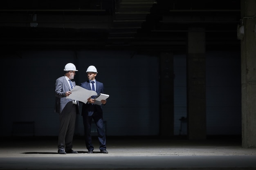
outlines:
[[[79,153],[66,155],[57,153],[57,137],[4,139],[0,170],[256,170],[256,148],[242,148],[237,137],[107,137],[108,154],[99,153],[96,137],[93,154],[83,137],[75,137]]]

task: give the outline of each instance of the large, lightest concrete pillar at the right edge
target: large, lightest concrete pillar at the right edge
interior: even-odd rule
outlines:
[[[242,147],[256,148],[256,0],[241,0]]]

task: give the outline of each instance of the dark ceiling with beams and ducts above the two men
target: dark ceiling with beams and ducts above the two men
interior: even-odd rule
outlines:
[[[240,0],[8,0],[0,2],[4,49],[184,51],[189,30],[207,49],[240,47]]]

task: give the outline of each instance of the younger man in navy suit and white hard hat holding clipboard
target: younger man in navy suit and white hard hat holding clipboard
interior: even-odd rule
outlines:
[[[99,95],[100,93],[104,93],[103,83],[96,81],[95,77],[97,75],[97,69],[95,66],[89,66],[87,68],[87,77],[88,80],[86,82],[81,83],[81,87],[87,90],[94,90]],[[85,132],[85,144],[88,149],[88,153],[93,153],[94,146],[92,145],[92,136],[91,136],[91,128],[92,128],[92,119],[94,120],[99,139],[99,150],[101,153],[108,153],[106,150],[106,133],[103,122],[103,111],[102,105],[94,104],[94,97],[92,96],[88,99],[87,103],[83,103],[82,107],[82,116],[83,116],[83,126]],[[103,105],[106,104],[106,100],[101,100]]]

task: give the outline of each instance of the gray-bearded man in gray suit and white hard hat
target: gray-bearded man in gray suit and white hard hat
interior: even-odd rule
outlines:
[[[76,123],[76,114],[79,114],[79,103],[76,100],[66,99],[76,82],[71,81],[76,75],[76,66],[68,63],[64,68],[64,75],[55,82],[55,113],[59,113],[60,127],[58,134],[58,153],[78,153],[72,150],[73,136]]]

